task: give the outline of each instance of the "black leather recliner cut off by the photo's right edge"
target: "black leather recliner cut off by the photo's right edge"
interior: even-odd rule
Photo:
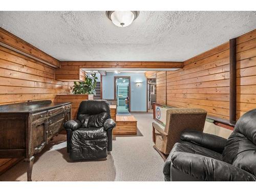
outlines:
[[[226,140],[187,130],[164,163],[165,181],[256,181],[256,109]]]

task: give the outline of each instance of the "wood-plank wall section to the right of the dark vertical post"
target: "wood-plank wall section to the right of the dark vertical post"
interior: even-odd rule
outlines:
[[[237,38],[237,119],[256,108],[256,30]]]

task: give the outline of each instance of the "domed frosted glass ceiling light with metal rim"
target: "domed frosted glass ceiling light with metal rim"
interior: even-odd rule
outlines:
[[[106,16],[118,27],[127,27],[139,16],[139,11],[106,11]]]

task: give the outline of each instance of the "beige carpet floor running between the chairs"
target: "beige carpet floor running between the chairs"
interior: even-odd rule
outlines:
[[[35,156],[33,181],[163,181],[163,159],[152,142],[152,114],[133,114],[136,136],[114,136],[113,151],[101,161],[72,162],[66,152],[66,136],[59,135]],[[0,181],[26,181],[26,165],[20,161]]]

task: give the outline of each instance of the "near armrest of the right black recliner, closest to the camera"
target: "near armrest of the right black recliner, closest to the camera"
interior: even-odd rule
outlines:
[[[255,176],[239,167],[202,155],[175,152],[171,160],[172,166],[202,181],[256,181]]]

